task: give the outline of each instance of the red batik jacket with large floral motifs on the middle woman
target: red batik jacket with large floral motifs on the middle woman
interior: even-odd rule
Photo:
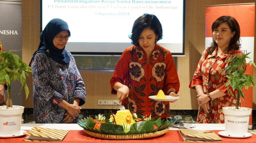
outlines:
[[[157,95],[163,90],[165,95],[171,88],[179,91],[180,82],[171,52],[155,44],[147,64],[147,54],[141,47],[126,48],[118,61],[110,80],[112,94],[115,83],[129,87],[128,98],[122,105],[130,112],[151,117],[170,117],[169,102],[155,101],[148,96]]]

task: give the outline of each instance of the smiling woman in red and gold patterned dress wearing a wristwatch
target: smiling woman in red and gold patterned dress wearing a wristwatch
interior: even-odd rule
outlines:
[[[226,63],[229,57],[243,55],[239,50],[240,27],[233,17],[221,16],[213,22],[212,32],[212,45],[204,50],[189,85],[198,94],[197,123],[224,123],[222,107],[236,105],[236,99],[227,93],[223,72],[229,65]]]

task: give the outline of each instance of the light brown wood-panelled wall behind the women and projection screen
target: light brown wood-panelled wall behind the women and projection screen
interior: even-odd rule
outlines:
[[[198,109],[196,90],[188,85],[196,70],[196,66],[204,51],[205,44],[205,6],[254,3],[255,0],[186,0],[185,14],[185,57],[177,58],[177,71],[180,79],[180,99],[172,103],[171,109]],[[255,18],[256,19],[256,18]],[[40,1],[22,1],[22,57],[29,64],[33,53],[39,45],[40,34]],[[255,41],[255,40],[254,40]],[[254,46],[256,45],[256,41]],[[256,57],[256,50],[254,50]],[[256,62],[256,59],[254,60]],[[116,109],[118,106],[97,105],[97,100],[117,100],[116,95],[111,95],[109,80],[113,72],[99,72],[80,70],[86,88],[86,103],[82,108],[91,109]],[[254,75],[256,70],[254,70]],[[27,79],[30,94],[27,100],[23,91],[23,105],[33,107],[32,79]],[[256,92],[254,88],[253,93]],[[253,97],[253,109],[256,110],[256,97]]]

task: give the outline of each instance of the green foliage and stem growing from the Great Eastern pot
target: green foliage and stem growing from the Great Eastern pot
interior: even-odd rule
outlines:
[[[12,107],[10,81],[13,80],[15,82],[19,80],[22,83],[21,89],[24,86],[27,99],[29,90],[26,83],[26,75],[29,77],[29,72],[32,72],[30,70],[31,67],[27,66],[18,55],[11,52],[16,52],[16,50],[0,52],[0,58],[2,58],[0,62],[0,83],[7,84],[7,108]]]

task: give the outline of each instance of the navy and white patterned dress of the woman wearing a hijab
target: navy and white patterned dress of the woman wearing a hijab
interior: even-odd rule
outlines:
[[[85,84],[76,68],[74,57],[63,65],[45,53],[37,53],[31,62],[33,77],[33,101],[35,123],[64,123],[65,109],[58,106],[63,99],[73,104],[80,98],[79,106],[85,103]],[[72,123],[76,123],[76,119]]]

